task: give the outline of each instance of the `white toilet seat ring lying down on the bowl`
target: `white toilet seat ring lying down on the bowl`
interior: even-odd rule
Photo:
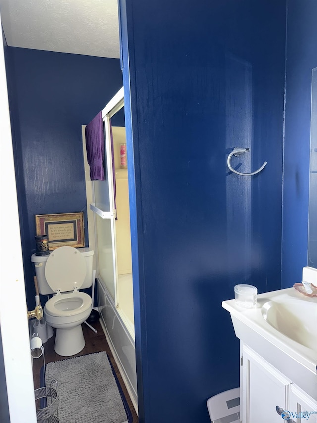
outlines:
[[[45,312],[54,317],[71,317],[89,310],[92,298],[84,292],[54,295],[45,304]]]

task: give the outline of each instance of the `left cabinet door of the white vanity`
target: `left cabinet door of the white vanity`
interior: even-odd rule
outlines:
[[[241,350],[242,422],[281,423],[276,406],[287,409],[291,381],[251,348]]]

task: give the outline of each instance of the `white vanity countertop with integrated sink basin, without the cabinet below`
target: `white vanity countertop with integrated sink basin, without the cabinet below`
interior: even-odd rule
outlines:
[[[317,396],[317,298],[286,288],[258,294],[256,308],[222,302],[236,336],[312,398]]]

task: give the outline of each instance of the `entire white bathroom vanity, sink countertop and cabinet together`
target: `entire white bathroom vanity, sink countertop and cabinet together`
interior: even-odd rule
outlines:
[[[240,421],[317,423],[317,298],[287,288],[222,307],[240,339]]]

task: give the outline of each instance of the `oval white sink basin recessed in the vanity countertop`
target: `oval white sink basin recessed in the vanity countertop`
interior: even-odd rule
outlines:
[[[261,307],[262,316],[280,333],[317,350],[317,303],[276,297]]]

